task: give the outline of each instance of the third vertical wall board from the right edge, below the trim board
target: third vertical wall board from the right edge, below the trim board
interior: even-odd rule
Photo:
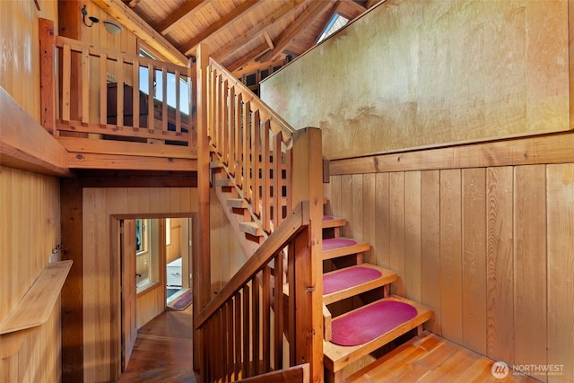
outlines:
[[[513,168],[486,170],[487,356],[514,362]]]

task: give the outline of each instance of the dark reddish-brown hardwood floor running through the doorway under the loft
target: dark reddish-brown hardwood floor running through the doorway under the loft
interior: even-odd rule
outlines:
[[[192,306],[164,311],[137,332],[134,352],[120,383],[196,383],[192,367]]]

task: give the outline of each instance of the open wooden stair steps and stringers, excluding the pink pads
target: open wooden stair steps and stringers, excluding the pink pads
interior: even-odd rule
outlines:
[[[225,213],[230,218],[230,223],[239,233],[239,241],[243,248],[248,251],[254,250],[265,241],[267,233],[263,231],[257,222],[250,221],[248,204],[238,197],[237,190],[222,170],[217,161],[212,162],[213,187],[217,196],[219,196]],[[326,200],[324,200],[324,204]],[[367,255],[370,253],[370,244],[357,241],[352,238],[344,237],[343,231],[346,220],[341,217],[325,215],[322,221],[323,227],[323,260],[325,266],[324,281],[330,279],[336,281],[338,278],[349,278],[349,274],[355,273],[356,270],[369,269],[377,271],[378,275],[361,283],[349,283],[342,289],[329,291],[323,294],[324,303],[324,362],[325,362],[325,379],[327,382],[343,382],[344,368],[362,357],[375,352],[382,346],[394,341],[397,337],[405,333],[418,329],[420,334],[422,324],[431,318],[430,309],[422,305],[407,300],[402,297],[392,296],[390,294],[391,283],[396,282],[397,275],[392,270],[384,267],[373,265],[368,262]],[[352,277],[351,277],[352,279]],[[325,288],[325,286],[324,286]],[[370,294],[378,299],[365,299],[362,296]],[[346,300],[346,303],[342,303]],[[352,300],[350,303],[349,300]],[[355,312],[361,312],[361,309],[375,304],[382,300],[394,300],[407,303],[416,309],[415,318],[396,326],[385,334],[379,335],[366,344],[355,346],[341,346],[330,342],[331,328],[333,323],[338,319],[344,318]],[[359,306],[357,306],[357,302]],[[345,310],[345,307],[352,307],[351,310]],[[338,316],[331,318],[331,309],[338,311]],[[342,310],[343,308],[343,310]],[[341,312],[344,311],[344,312]]]

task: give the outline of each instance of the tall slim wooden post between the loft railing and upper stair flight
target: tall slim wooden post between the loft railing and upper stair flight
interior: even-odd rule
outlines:
[[[197,318],[201,309],[210,300],[211,295],[211,264],[210,264],[210,216],[209,216],[209,142],[207,126],[207,100],[209,89],[207,87],[207,70],[209,64],[209,51],[204,44],[199,44],[196,51],[196,115],[197,115],[197,191],[198,191],[198,232],[197,257],[193,258],[193,292],[194,318]],[[211,90],[213,91],[213,90]],[[199,333],[199,334],[197,334]],[[205,330],[196,331],[194,339],[194,366],[204,366],[201,358],[204,357]],[[204,376],[206,371],[200,371]]]

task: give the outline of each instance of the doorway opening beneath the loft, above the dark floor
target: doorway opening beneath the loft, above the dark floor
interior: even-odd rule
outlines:
[[[127,368],[137,330],[166,309],[192,301],[192,217],[113,217],[119,260],[119,372]],[[187,304],[185,301],[188,300]]]

